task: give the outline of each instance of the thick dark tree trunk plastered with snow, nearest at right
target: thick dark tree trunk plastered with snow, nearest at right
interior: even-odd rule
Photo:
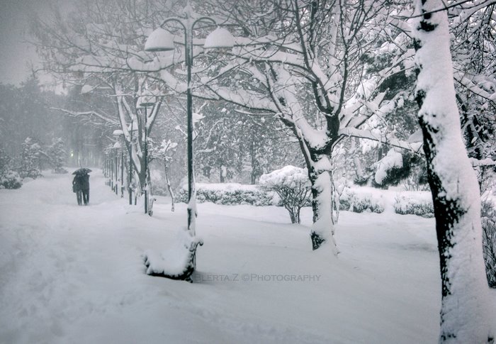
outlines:
[[[442,281],[440,343],[489,343],[494,338],[484,271],[480,194],[461,137],[441,0],[417,0],[414,21],[416,99],[432,189]]]

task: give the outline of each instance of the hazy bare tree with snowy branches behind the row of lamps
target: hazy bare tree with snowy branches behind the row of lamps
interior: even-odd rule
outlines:
[[[54,8],[54,20],[33,21],[32,32],[44,61],[44,69],[73,92],[97,94],[104,101],[92,99],[79,109],[58,109],[86,121],[107,123],[123,131],[139,191],[150,185],[145,165],[145,137],[150,137],[164,94],[156,92],[154,105],[143,109],[140,95],[149,92],[146,73],[133,70],[128,58],[141,56],[142,42],[148,30],[167,6],[152,6],[152,1],[80,1],[74,13],[64,18]],[[128,20],[123,20],[128,18]],[[146,58],[146,57],[145,57]],[[111,106],[108,104],[110,99]],[[137,130],[131,135],[130,128]],[[133,136],[133,140],[131,138]]]

